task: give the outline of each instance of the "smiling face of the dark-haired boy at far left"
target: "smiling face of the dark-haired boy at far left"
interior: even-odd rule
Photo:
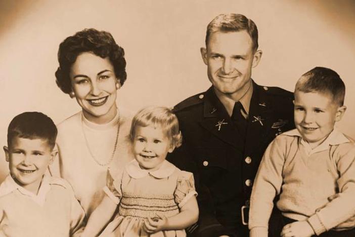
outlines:
[[[48,141],[14,137],[4,150],[11,176],[20,186],[36,194],[48,165],[55,157]]]

